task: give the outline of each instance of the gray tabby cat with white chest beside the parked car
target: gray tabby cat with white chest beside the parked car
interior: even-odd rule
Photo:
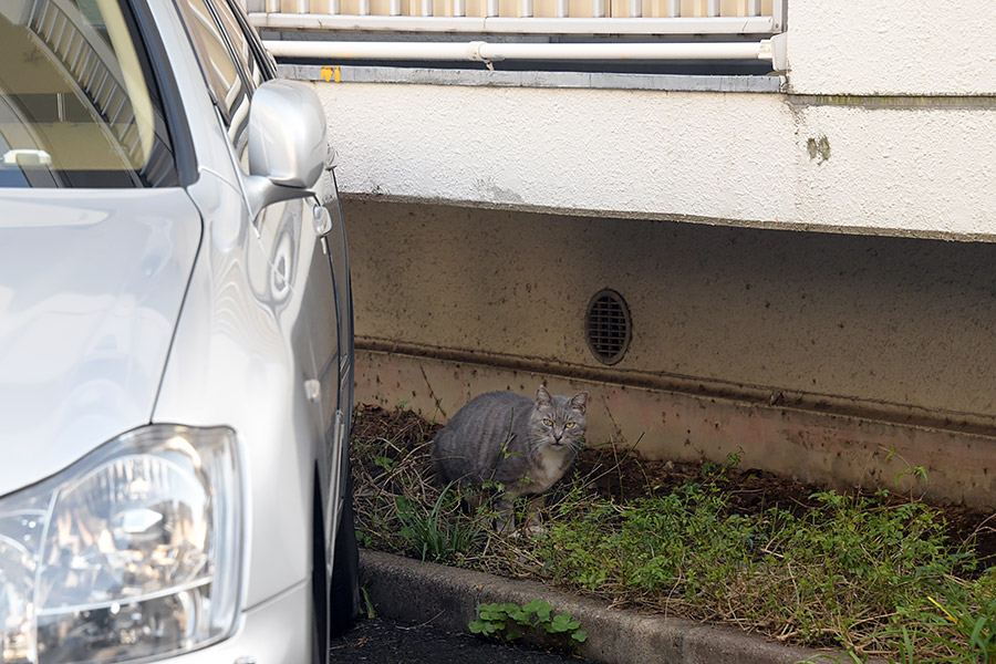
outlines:
[[[549,489],[570,468],[588,421],[587,392],[550,395],[542,385],[536,401],[512,392],[489,392],[460,408],[433,440],[432,456],[443,481],[458,486],[500,483],[498,529],[515,529],[512,500]],[[529,501],[529,525],[542,497]]]

